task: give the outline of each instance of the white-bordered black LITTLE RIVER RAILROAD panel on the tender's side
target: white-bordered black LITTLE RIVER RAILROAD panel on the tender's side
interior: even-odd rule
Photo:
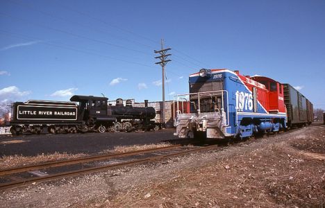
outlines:
[[[77,120],[76,107],[18,105],[18,120]]]

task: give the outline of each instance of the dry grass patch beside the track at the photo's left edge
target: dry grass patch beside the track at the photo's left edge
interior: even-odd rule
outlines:
[[[53,153],[48,155],[38,155],[33,157],[26,157],[22,155],[10,155],[0,158],[0,169],[13,168],[15,166],[26,166],[28,164],[37,164],[41,162],[57,161],[63,159],[73,159],[87,156],[85,154],[67,154],[67,153]]]

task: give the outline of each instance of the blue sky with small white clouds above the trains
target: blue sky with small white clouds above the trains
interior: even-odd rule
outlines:
[[[290,83],[325,109],[324,37],[317,0],[0,1],[0,101],[159,101],[163,38],[167,99],[188,92],[190,73],[227,68]]]

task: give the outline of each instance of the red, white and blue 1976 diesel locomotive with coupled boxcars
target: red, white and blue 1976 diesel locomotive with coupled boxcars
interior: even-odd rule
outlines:
[[[272,78],[201,69],[190,75],[189,88],[174,97],[178,137],[244,138],[313,122],[313,104]]]

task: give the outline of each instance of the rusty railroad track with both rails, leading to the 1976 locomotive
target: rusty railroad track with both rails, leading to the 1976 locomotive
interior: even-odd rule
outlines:
[[[149,150],[138,150],[129,153],[118,153],[113,155],[83,157],[79,159],[70,159],[70,160],[59,161],[59,162],[47,162],[44,164],[36,164],[31,166],[19,167],[19,168],[10,168],[10,169],[0,171],[1,179],[2,181],[5,181],[0,184],[0,190],[26,186],[28,184],[33,184],[35,182],[46,182],[46,181],[56,180],[64,177],[74,177],[85,173],[95,173],[103,170],[107,171],[112,168],[131,166],[135,164],[143,164],[146,162],[156,162],[161,159],[167,159],[168,157],[185,155],[188,153],[194,153],[194,152],[213,149],[217,147],[218,147],[217,145],[211,145],[211,146],[190,148],[190,147],[182,147],[181,145],[174,145],[174,146],[167,146],[163,148],[153,148]],[[170,153],[170,151],[172,151],[172,153]],[[131,158],[128,158],[130,156]],[[138,156],[142,158],[134,159],[134,156]],[[121,158],[121,157],[124,157],[126,161],[122,160],[120,162],[117,162],[116,164],[106,164],[106,165],[97,164],[86,168],[82,166],[81,168],[77,168],[76,170],[72,170],[72,171],[61,172],[58,170],[56,171],[52,170],[50,171],[52,172],[50,174],[47,174],[46,172],[40,172],[40,170],[48,170],[57,167],[63,167],[64,169],[65,168],[69,169],[69,166],[75,164],[87,164],[89,162],[105,161],[107,159]],[[33,175],[28,178],[22,178],[22,176],[20,176],[20,175],[26,175],[27,173],[33,173]],[[8,180],[10,180],[10,182],[7,182]]]

